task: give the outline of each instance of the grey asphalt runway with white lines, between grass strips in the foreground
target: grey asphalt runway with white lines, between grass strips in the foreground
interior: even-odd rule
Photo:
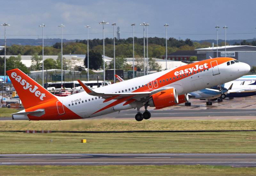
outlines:
[[[0,165],[223,165],[256,167],[256,154],[0,155]]]

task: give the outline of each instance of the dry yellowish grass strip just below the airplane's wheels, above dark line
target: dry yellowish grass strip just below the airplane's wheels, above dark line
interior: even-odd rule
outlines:
[[[256,130],[255,120],[62,120],[0,121],[0,130],[133,131],[133,130]]]

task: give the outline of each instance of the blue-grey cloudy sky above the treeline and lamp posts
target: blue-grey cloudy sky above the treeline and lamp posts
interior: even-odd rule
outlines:
[[[256,37],[255,0],[1,0],[0,23],[7,23],[8,38],[89,39],[114,37],[116,23],[120,38],[143,37],[143,26],[148,23],[148,37],[186,40],[207,40],[217,38],[252,39]],[[145,27],[145,36],[147,35]],[[4,39],[4,26],[0,26],[0,39]]]

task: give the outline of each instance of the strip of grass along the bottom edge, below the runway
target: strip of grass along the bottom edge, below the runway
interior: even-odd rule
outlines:
[[[145,175],[145,176],[250,176],[256,168],[231,168],[230,166],[164,165],[164,166],[0,166],[4,176],[95,176],[95,175]]]

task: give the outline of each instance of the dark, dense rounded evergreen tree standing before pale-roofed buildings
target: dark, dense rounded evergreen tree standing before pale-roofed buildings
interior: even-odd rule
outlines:
[[[87,67],[87,54],[84,58],[84,66]],[[98,70],[103,66],[103,59],[100,52],[91,50],[89,51],[89,69]]]

